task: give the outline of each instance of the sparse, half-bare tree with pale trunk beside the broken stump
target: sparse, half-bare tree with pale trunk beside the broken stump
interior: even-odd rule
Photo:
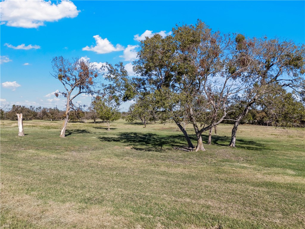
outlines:
[[[57,92],[55,95],[62,95],[66,98],[66,113],[60,132],[60,137],[65,137],[70,109],[73,107],[72,100],[82,93],[91,96],[99,93],[98,86],[101,84],[98,82],[98,77],[102,69],[83,58],[68,60],[63,56],[54,57],[52,67],[51,75],[58,79],[64,87],[63,91]]]

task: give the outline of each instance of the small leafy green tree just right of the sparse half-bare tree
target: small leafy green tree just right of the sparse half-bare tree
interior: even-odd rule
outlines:
[[[107,105],[108,104],[108,105]],[[92,106],[96,111],[96,116],[102,121],[106,121],[109,128],[109,122],[117,121],[121,117],[120,111],[111,104],[111,102],[103,99],[100,96],[96,96],[95,100],[92,101]]]

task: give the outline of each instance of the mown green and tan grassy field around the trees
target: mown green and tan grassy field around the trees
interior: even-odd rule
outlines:
[[[241,125],[230,148],[219,125],[184,152],[174,124],[0,122],[3,229],[305,228],[304,129]]]

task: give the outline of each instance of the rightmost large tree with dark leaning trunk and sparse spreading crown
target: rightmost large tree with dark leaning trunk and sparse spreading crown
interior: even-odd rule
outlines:
[[[296,94],[302,95],[305,89],[305,46],[296,45],[292,41],[280,39],[246,39],[239,35],[236,50],[245,53],[248,46],[253,46],[253,64],[250,66],[247,77],[243,78],[247,87],[242,98],[236,101],[240,105],[240,112],[234,118],[234,126],[229,146],[235,147],[238,125],[250,107],[259,101],[259,104],[269,104],[274,90],[289,88]],[[273,91],[273,92],[272,92]],[[276,105],[274,105],[276,106]],[[289,104],[285,104],[289,106]]]

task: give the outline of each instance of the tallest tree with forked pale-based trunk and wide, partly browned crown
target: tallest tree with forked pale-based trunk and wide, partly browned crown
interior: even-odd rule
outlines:
[[[141,42],[134,68],[141,85],[155,91],[166,87],[179,97],[175,108],[194,127],[196,151],[204,150],[202,133],[222,122],[231,97],[245,89],[241,78],[253,62],[252,47],[241,53],[235,46],[234,35],[213,32],[201,21]],[[206,125],[199,127],[203,119]]]

